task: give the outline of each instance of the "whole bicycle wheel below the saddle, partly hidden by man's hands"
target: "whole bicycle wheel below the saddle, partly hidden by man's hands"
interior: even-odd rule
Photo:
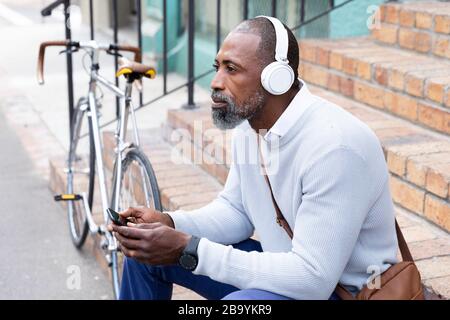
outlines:
[[[114,166],[116,168],[117,164]],[[114,170],[114,172],[116,172]],[[117,177],[113,179],[113,189]],[[145,206],[162,211],[161,198],[156,176],[147,156],[138,148],[130,149],[122,160],[122,175],[120,177],[120,192],[115,190],[111,197],[111,207],[115,206],[118,197],[117,211],[129,207]],[[112,284],[116,298],[119,297],[122,280],[123,254],[111,252]]]

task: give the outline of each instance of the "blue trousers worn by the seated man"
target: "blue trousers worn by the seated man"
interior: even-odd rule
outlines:
[[[234,248],[262,252],[258,241],[248,239]],[[173,284],[188,288],[208,300],[292,300],[291,298],[258,289],[239,290],[229,284],[206,276],[195,275],[178,265],[150,266],[125,258],[123,266],[121,300],[170,300]],[[330,300],[339,298],[333,293]]]

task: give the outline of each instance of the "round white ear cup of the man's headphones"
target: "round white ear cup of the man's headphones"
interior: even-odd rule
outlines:
[[[294,71],[285,63],[272,62],[261,73],[261,85],[267,92],[276,96],[289,91],[293,83]]]

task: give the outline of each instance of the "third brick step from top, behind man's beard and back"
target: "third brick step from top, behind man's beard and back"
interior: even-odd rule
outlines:
[[[375,131],[391,173],[395,203],[450,231],[450,139],[318,87],[310,89]],[[169,111],[164,135],[184,156],[224,182],[231,135],[213,128],[208,108]]]

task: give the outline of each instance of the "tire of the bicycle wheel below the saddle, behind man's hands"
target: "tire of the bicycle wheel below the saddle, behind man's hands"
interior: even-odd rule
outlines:
[[[159,193],[158,188],[158,182],[156,180],[155,172],[153,171],[153,167],[150,163],[150,160],[147,158],[147,156],[139,149],[139,148],[131,148],[126,153],[124,159],[122,160],[122,175],[120,177],[121,179],[121,190],[124,186],[124,179],[127,175],[127,170],[131,168],[131,163],[133,161],[136,161],[139,166],[143,169],[144,175],[148,180],[148,185],[150,189],[148,189],[148,193],[151,193],[150,196],[152,198],[152,207],[153,209],[156,209],[158,211],[162,211],[162,205],[161,205],[161,197]],[[116,166],[117,163],[114,164],[114,171],[116,172]],[[131,169],[130,169],[131,170]],[[141,172],[142,173],[142,172]],[[111,197],[111,207],[114,207],[115,204],[115,198],[116,198],[116,192],[114,186],[116,185],[116,179],[117,177],[113,177],[113,192]],[[120,193],[119,193],[120,196]],[[120,201],[119,201],[120,203]],[[127,208],[116,208],[119,211],[125,210]],[[119,254],[118,251],[111,252],[111,274],[112,274],[112,285],[113,285],[113,291],[116,299],[119,297],[119,291],[120,291],[120,283],[121,283],[121,275],[122,275],[122,254]]]

